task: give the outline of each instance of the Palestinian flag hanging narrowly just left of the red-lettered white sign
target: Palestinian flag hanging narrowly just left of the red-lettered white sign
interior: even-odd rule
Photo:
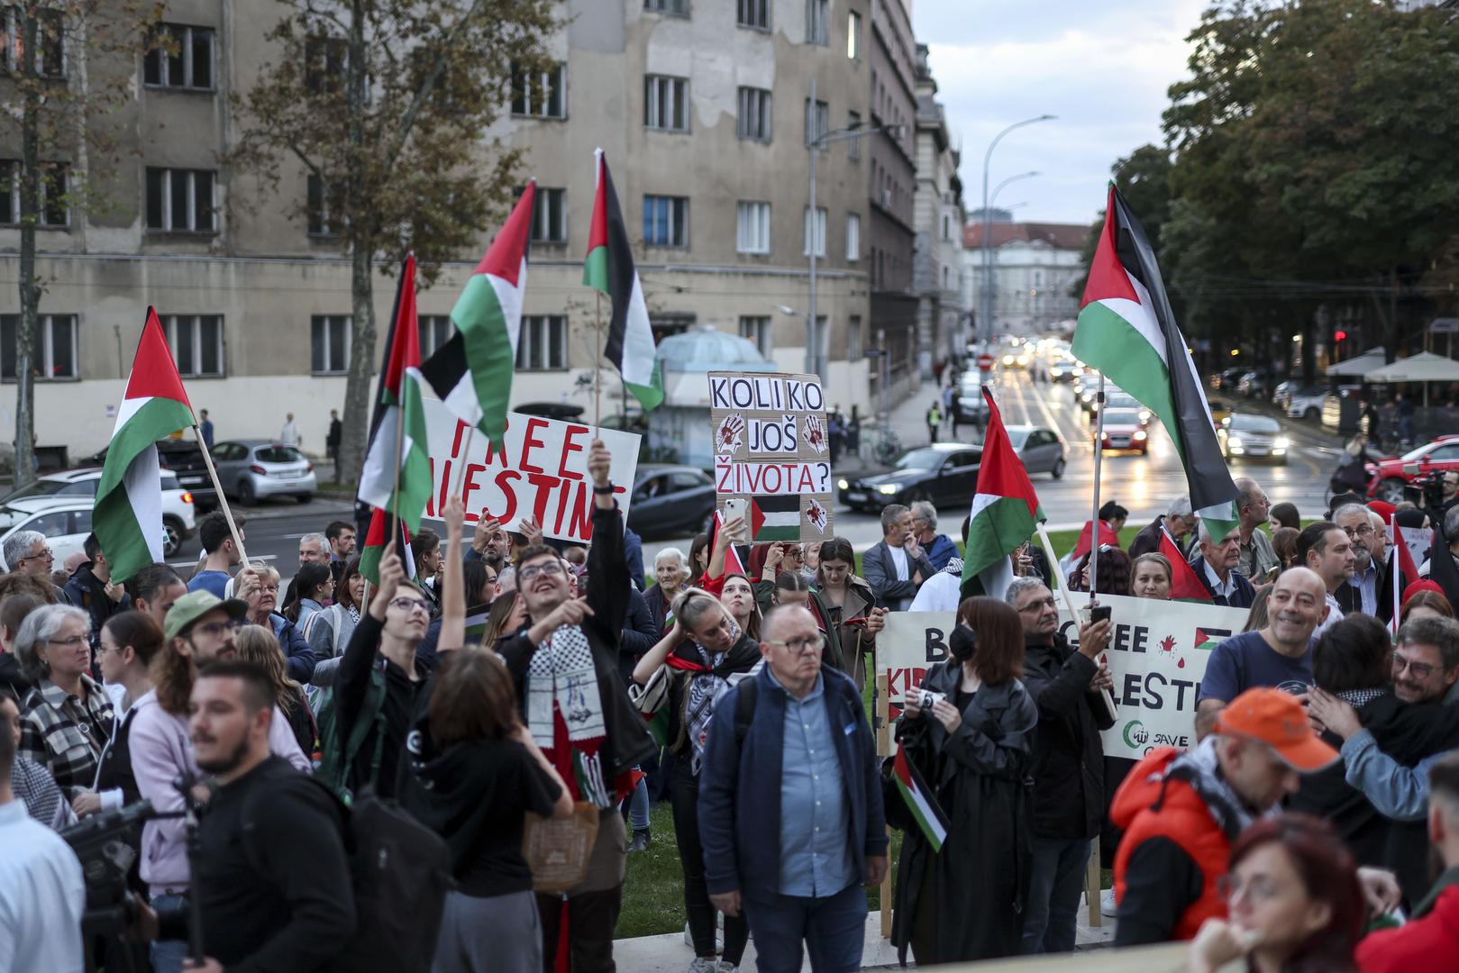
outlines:
[[[410,532],[430,499],[430,449],[420,400],[420,330],[416,324],[416,257],[406,257],[385,346],[374,430],[359,499],[390,511]],[[369,575],[366,575],[369,578]],[[371,581],[375,581],[371,578]]]

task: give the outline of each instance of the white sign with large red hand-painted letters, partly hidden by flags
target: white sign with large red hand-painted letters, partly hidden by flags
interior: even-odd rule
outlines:
[[[587,544],[592,537],[588,446],[595,436],[613,454],[613,493],[627,516],[639,436],[506,413],[506,445],[493,451],[480,430],[468,435],[470,426],[439,401],[427,400],[425,407],[435,484],[426,516],[438,516],[449,490],[460,483],[468,524],[495,516],[502,527],[515,531],[524,516],[531,516],[541,524],[546,537]]]

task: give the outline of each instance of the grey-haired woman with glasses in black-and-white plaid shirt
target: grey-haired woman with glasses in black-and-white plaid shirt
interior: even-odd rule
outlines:
[[[70,605],[36,608],[15,637],[35,686],[20,700],[20,750],[51,772],[67,801],[88,794],[112,724],[111,699],[89,675],[90,617]]]

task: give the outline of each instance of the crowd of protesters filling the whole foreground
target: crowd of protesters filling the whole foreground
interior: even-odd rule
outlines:
[[[0,960],[314,970],[394,937],[391,969],[607,972],[627,856],[667,799],[690,973],[738,969],[751,941],[760,970],[859,969],[889,824],[891,938],[919,966],[1071,953],[1096,842],[1118,947],[1186,939],[1192,970],[1459,961],[1452,500],[1336,497],[1303,527],[1243,478],[1234,528],[1176,497],[1128,553],[1112,502],[1065,562],[1020,548],[1005,591],[964,598],[929,503],[886,508],[859,560],[839,537],[746,544],[730,521],[659,551],[645,586],[608,470],[594,442],[587,548],[530,518],[467,540],[452,497],[409,550],[362,557],[344,521],[303,535],[283,589],[222,515],[188,579],[114,584],[95,538],[57,579],[44,538],[12,538]],[[1434,530],[1427,579],[1396,598],[1395,522]],[[1112,623],[1067,639],[1056,592],[1186,582],[1247,619],[1210,654],[1195,744],[1106,757]],[[940,843],[864,702],[906,610],[956,613],[894,728]],[[142,801],[155,817],[118,831],[127,919],[101,922],[77,836]],[[372,912],[371,827],[417,849],[404,931]]]

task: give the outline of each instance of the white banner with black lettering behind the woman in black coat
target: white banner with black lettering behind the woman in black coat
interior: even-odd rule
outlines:
[[[1115,681],[1118,718],[1103,734],[1104,754],[1138,759],[1156,747],[1195,743],[1195,703],[1205,662],[1223,639],[1240,633],[1246,608],[1189,601],[1100,595],[1115,632],[1104,661]],[[877,637],[877,665],[887,674],[893,715],[928,667],[948,658],[951,611],[891,611]],[[1059,632],[1078,645],[1078,623],[1059,610]]]

